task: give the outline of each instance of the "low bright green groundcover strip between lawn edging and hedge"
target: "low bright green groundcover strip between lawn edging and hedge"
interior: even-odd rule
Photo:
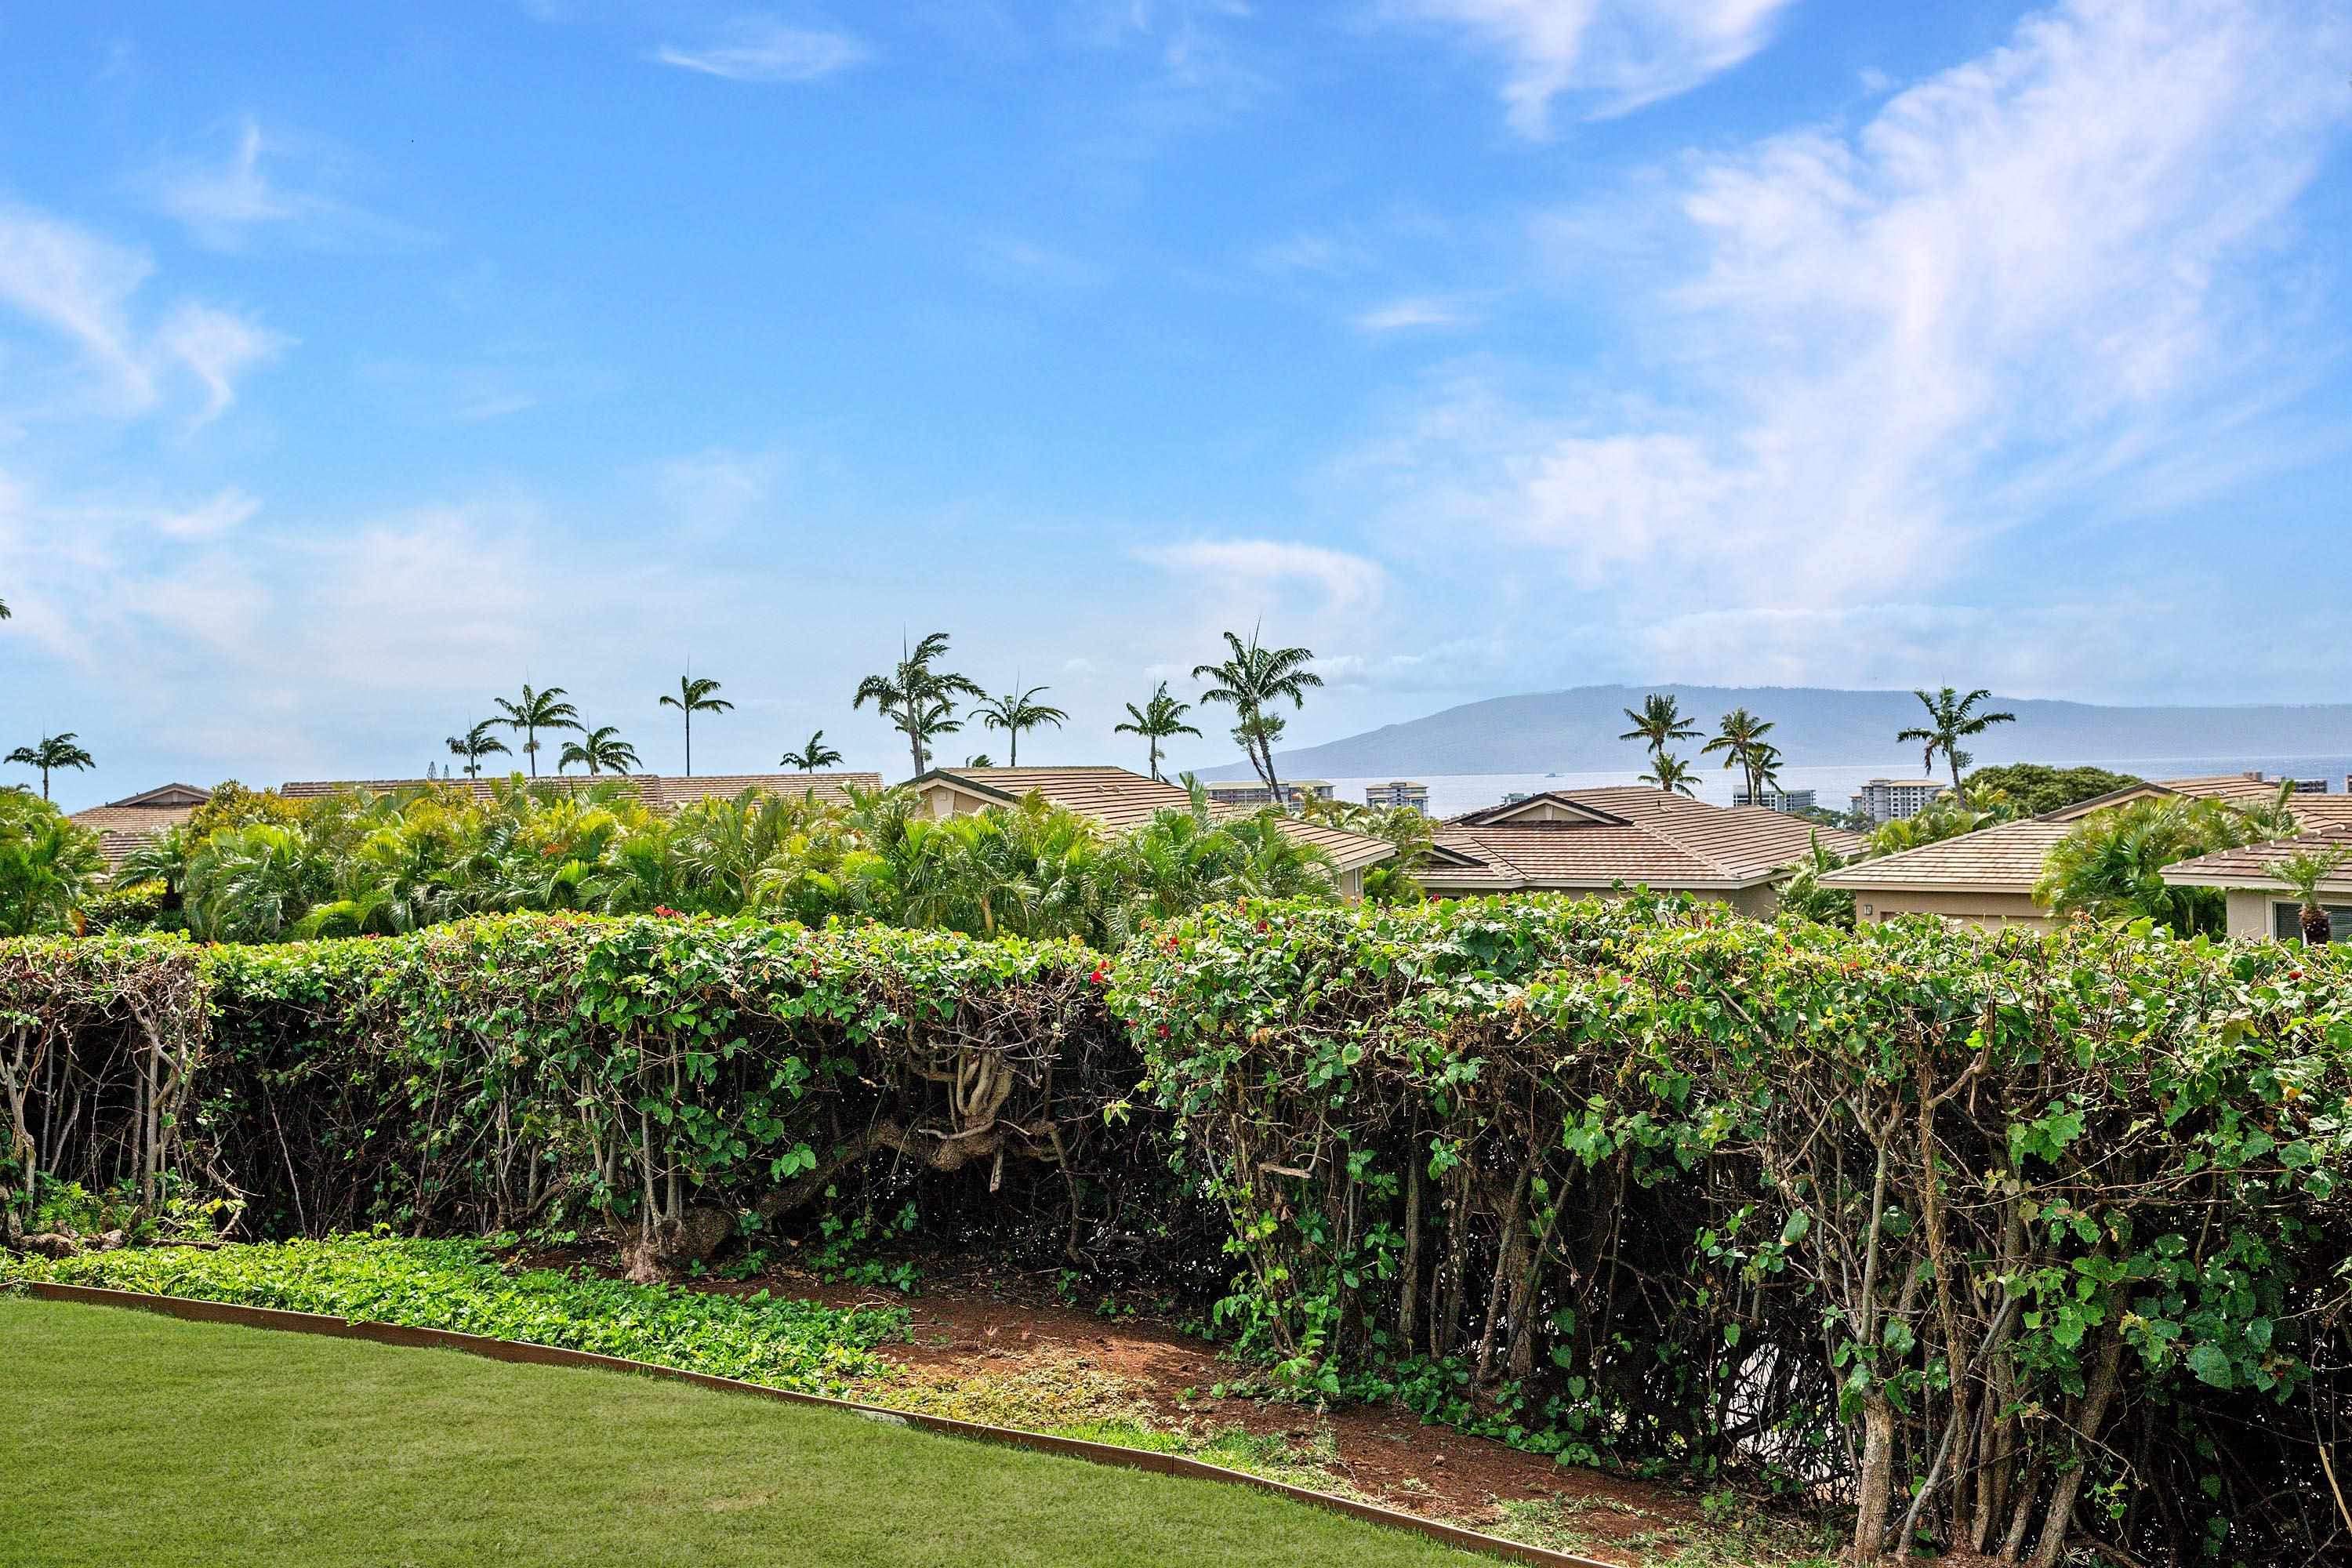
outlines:
[[[748,1378],[811,1394],[882,1371],[906,1338],[896,1307],[633,1286],[560,1269],[508,1274],[480,1241],[332,1237],[233,1248],[125,1248],[80,1258],[0,1258],[0,1281],[49,1279],[240,1307],[325,1312],[402,1328],[454,1328]]]

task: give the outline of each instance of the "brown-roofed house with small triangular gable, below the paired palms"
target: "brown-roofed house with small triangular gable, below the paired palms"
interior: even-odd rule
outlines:
[[[1435,863],[1414,877],[1435,898],[1646,886],[1769,917],[1780,882],[1811,858],[1816,832],[1835,853],[1860,849],[1851,832],[1762,806],[1710,806],[1632,785],[1545,790],[1439,823]]]

